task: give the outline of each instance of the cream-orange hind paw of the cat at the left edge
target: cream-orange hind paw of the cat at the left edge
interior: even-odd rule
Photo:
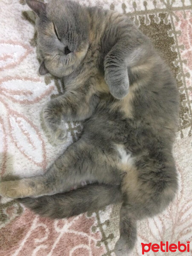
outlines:
[[[0,195],[9,198],[23,198],[32,194],[30,187],[23,180],[0,182]]]

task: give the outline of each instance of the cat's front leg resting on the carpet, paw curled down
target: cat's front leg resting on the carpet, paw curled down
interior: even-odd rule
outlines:
[[[87,81],[75,90],[52,99],[43,110],[44,124],[55,143],[62,143],[67,135],[65,122],[89,118],[99,102],[93,93],[93,82]]]

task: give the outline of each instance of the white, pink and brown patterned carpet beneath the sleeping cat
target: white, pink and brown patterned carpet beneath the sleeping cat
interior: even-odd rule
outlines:
[[[192,1],[81,0],[87,5],[129,15],[171,67],[180,91],[180,125],[174,146],[179,174],[175,201],[155,218],[138,222],[131,255],[142,255],[141,242],[192,240]],[[66,145],[55,146],[41,127],[40,112],[62,93],[59,81],[38,76],[32,13],[24,0],[0,0],[0,173],[29,177],[45,172],[76,140],[79,124],[69,124]],[[29,23],[31,20],[31,23]],[[34,215],[15,201],[0,198],[1,256],[114,256],[119,207],[92,215],[53,221]],[[192,244],[191,244],[192,249]],[[152,251],[145,255],[172,255]],[[192,255],[175,252],[174,255]]]

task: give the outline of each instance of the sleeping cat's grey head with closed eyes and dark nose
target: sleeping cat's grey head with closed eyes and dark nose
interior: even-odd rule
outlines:
[[[89,44],[88,15],[79,4],[50,0],[45,4],[26,0],[38,15],[38,50],[42,62],[40,75],[62,77],[72,73],[87,53]]]

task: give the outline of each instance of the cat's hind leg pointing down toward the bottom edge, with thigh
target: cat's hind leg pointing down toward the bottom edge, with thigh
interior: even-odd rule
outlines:
[[[137,239],[136,221],[162,212],[177,191],[172,153],[164,148],[134,156],[125,169],[116,256],[126,256],[133,249]]]

